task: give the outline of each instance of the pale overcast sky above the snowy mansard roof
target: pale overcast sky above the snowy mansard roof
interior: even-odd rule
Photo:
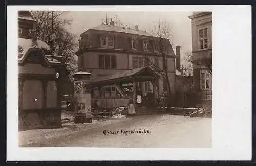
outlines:
[[[110,12],[108,17],[115,20],[115,15],[123,24],[139,25],[141,30],[149,31],[158,20],[170,22],[173,27],[175,45],[181,45],[181,54],[191,51],[191,20],[188,18],[192,12]],[[65,15],[72,19],[70,31],[78,37],[84,31],[101,24],[101,18],[106,18],[104,11],[70,11]],[[174,50],[175,51],[175,50]]]

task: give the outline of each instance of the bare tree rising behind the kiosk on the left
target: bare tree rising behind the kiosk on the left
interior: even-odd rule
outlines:
[[[71,25],[72,20],[62,18],[66,11],[31,11],[31,16],[37,21],[38,39],[46,42],[51,51],[62,56],[63,63],[68,63],[67,71],[71,76],[77,70],[75,51],[75,35],[66,27]]]

